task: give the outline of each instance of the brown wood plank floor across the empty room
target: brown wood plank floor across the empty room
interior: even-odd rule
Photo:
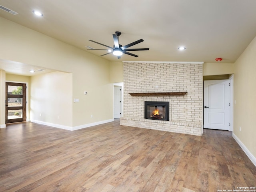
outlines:
[[[120,126],[76,131],[23,122],[0,129],[0,191],[215,192],[256,186],[232,132],[202,137]]]

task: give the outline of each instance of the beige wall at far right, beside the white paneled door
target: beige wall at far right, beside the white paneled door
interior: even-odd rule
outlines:
[[[256,158],[256,38],[234,64],[234,134]],[[240,128],[241,127],[241,131]]]

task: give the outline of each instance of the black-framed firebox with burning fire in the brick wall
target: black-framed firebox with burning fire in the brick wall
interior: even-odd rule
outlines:
[[[145,101],[145,119],[169,121],[169,102]]]

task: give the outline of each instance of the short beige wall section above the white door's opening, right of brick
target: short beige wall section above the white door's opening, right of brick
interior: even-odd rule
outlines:
[[[234,64],[233,63],[204,63],[204,76],[208,75],[226,75],[234,73]]]

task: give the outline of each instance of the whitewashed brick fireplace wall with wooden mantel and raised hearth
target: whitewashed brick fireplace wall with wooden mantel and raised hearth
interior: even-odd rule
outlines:
[[[202,63],[124,62],[120,124],[201,136],[202,91]],[[168,103],[169,120],[145,118],[145,102]]]

